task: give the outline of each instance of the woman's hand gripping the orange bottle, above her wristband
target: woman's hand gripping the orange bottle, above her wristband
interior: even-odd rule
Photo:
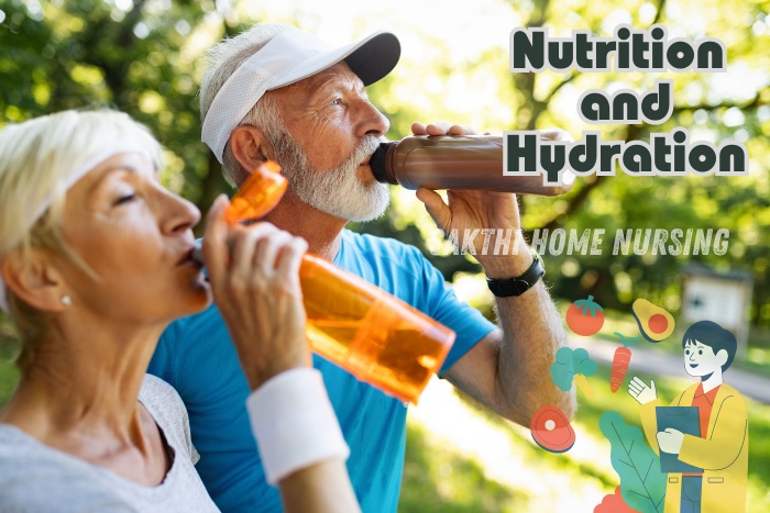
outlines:
[[[299,265],[307,243],[270,223],[226,220],[224,196],[209,211],[204,255],[215,302],[252,390],[310,365]]]

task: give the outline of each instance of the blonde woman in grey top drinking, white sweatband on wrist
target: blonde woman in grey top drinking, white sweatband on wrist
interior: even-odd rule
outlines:
[[[0,413],[2,511],[213,511],[176,392],[145,376],[168,323],[217,301],[254,390],[257,445],[287,511],[355,510],[348,447],[309,365],[307,246],[198,210],[158,180],[125,114],[67,111],[0,130],[0,308],[21,381]],[[207,377],[201,376],[201,381]]]

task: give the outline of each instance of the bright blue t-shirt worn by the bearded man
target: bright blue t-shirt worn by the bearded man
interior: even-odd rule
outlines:
[[[495,325],[458,300],[441,272],[415,247],[389,238],[342,232],[339,267],[362,277],[454,330],[442,371]],[[314,355],[350,446],[348,471],[364,512],[396,511],[404,468],[406,405]],[[267,484],[245,400],[249,384],[219,311],[173,323],[150,364],[187,406],[196,465],[217,505],[230,511],[280,511],[278,489]]]

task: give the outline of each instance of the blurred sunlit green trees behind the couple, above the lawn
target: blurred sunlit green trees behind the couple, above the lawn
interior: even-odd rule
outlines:
[[[576,116],[581,92],[650,89],[654,78],[671,78],[675,105],[669,122],[600,125],[602,138],[647,141],[651,132],[684,126],[693,140],[746,144],[750,176],[638,178],[618,171],[581,178],[562,198],[525,197],[524,226],[530,237],[535,230],[576,230],[579,235],[585,228],[605,230],[601,255],[546,252],[547,279],[558,297],[593,294],[618,310],[644,297],[676,313],[682,268],[697,261],[748,271],[754,277],[751,322],[770,326],[770,242],[763,235],[770,228],[770,2],[501,0],[497,7],[506,5],[520,25],[547,26],[552,36],[574,29],[609,36],[619,23],[642,29],[656,22],[670,37],[715,36],[727,47],[728,73],[510,74],[506,47],[458,57],[449,36],[416,29],[399,35],[419,38],[419,48],[405,45],[396,70],[370,88],[373,102],[391,120],[389,137],[407,135],[415,120],[451,120],[495,132],[560,126],[580,138],[581,131],[597,129]],[[279,10],[245,0],[0,0],[0,125],[87,104],[123,110],[147,124],[167,148],[167,186],[206,211],[228,187],[199,141],[201,57],[222,36],[257,21],[298,21],[314,30],[321,20],[309,8],[275,15],[272,9]],[[473,15],[472,8],[468,12]],[[365,33],[374,18],[356,19],[353,35]],[[477,30],[484,29],[479,24]],[[437,237],[435,224],[414,193],[394,188],[392,196],[394,208],[386,216],[351,227],[422,248],[449,280],[479,272],[470,256],[430,255],[425,241]],[[648,227],[728,228],[729,250],[724,256],[612,254],[616,230]]]

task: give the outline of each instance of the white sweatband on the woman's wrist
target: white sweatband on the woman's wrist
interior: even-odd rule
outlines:
[[[350,449],[321,373],[309,367],[280,372],[246,399],[267,482],[319,461],[346,459]]]

